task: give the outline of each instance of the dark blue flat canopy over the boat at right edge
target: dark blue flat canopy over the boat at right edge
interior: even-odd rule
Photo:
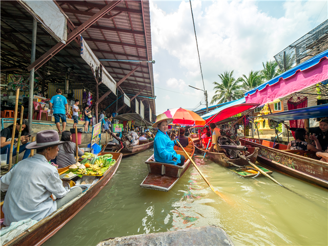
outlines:
[[[328,117],[328,104],[265,115],[265,118],[272,119],[275,121],[322,117]]]

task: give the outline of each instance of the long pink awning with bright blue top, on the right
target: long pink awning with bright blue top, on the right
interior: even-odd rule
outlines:
[[[246,103],[267,104],[328,79],[328,50],[245,93]]]

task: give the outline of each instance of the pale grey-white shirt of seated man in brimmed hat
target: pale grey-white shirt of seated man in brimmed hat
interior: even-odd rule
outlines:
[[[2,208],[7,227],[23,219],[42,220],[57,210],[51,194],[67,194],[57,169],[40,154],[19,161],[0,179],[0,189],[7,191]]]

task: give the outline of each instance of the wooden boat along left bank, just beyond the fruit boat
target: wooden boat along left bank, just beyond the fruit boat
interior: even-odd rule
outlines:
[[[128,148],[124,147],[123,149],[121,149],[121,145],[106,145],[103,147],[101,152],[106,152],[106,151],[115,152],[121,149],[120,153],[123,154],[123,157],[127,157],[148,150],[153,146],[154,146],[153,140],[139,140],[139,145],[131,146]]]

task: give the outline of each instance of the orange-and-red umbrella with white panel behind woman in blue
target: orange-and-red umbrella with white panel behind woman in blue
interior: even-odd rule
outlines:
[[[163,114],[166,114],[169,118],[173,118],[172,124],[183,126],[204,126],[205,120],[203,120],[198,114],[188,109],[169,109]]]

